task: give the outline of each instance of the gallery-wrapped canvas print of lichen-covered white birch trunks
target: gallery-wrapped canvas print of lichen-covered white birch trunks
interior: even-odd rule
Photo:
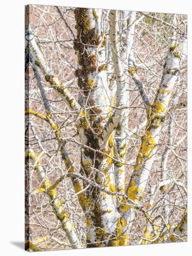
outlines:
[[[185,242],[187,16],[28,5],[25,42],[26,250]]]

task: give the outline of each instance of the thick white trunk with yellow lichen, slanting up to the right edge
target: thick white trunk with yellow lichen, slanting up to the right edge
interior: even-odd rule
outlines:
[[[137,158],[137,166],[135,167],[127,188],[127,195],[134,198],[136,203],[140,202],[145,190],[157,150],[156,145],[159,141],[160,131],[169,105],[170,93],[177,80],[181,56],[180,43],[179,40],[176,40],[175,36],[172,37],[162,81],[156,99],[148,110],[148,123]],[[135,210],[129,208],[126,213],[129,230],[131,230],[133,226],[134,217]]]

